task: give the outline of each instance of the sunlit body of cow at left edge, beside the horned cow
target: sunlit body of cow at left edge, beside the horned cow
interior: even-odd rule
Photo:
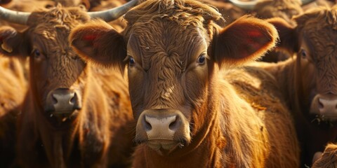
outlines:
[[[10,167],[15,162],[15,123],[27,80],[19,59],[1,57],[0,69],[0,162],[1,167]]]

